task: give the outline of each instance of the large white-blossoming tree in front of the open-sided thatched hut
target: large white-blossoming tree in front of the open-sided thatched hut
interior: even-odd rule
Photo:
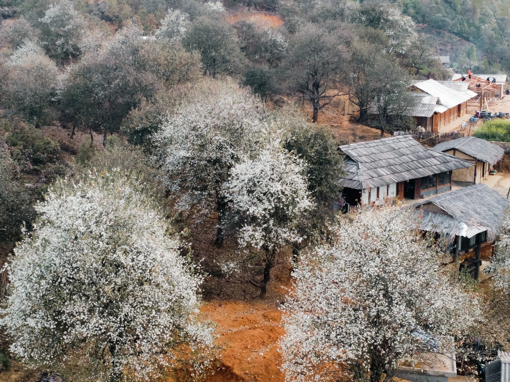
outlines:
[[[303,255],[285,305],[288,381],[376,382],[477,321],[477,300],[441,274],[439,253],[411,222],[394,208],[358,212]]]

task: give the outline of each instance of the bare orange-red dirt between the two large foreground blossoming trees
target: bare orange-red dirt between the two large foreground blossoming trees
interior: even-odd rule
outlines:
[[[201,312],[218,324],[216,343],[223,347],[215,374],[207,382],[283,382],[278,341],[282,313],[264,303],[215,301]]]

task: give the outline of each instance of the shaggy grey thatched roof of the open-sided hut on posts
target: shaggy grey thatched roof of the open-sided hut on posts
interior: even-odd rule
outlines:
[[[500,232],[503,213],[509,201],[487,184],[473,184],[450,193],[413,204],[423,213],[420,228],[441,232],[452,242],[455,235],[472,237],[487,231],[492,241]]]

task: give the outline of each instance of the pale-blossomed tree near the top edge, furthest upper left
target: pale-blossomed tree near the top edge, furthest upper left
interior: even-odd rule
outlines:
[[[75,10],[72,2],[62,0],[50,4],[44,17],[39,19],[42,45],[49,57],[63,60],[80,54],[80,41],[84,34],[85,20]]]

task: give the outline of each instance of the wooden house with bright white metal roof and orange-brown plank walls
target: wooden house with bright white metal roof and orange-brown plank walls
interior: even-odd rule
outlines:
[[[432,132],[438,132],[442,126],[446,126],[457,118],[466,115],[468,100],[474,94],[464,90],[454,90],[433,79],[414,81],[410,90],[419,97],[420,102],[416,110],[411,111],[411,114],[407,114],[414,116],[419,126]],[[433,108],[425,115],[421,112],[421,109],[430,104],[433,105]]]

